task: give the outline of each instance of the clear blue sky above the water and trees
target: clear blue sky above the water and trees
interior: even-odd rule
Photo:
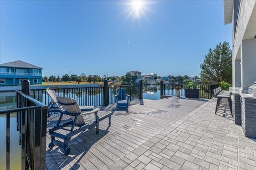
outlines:
[[[138,14],[131,1],[0,1],[0,62],[41,66],[43,76],[195,76],[209,48],[231,43],[222,1],[142,5]]]

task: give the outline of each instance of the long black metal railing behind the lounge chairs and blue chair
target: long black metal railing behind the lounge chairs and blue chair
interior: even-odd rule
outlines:
[[[116,103],[116,90],[120,88],[126,90],[126,95],[130,95],[131,100],[140,98],[139,94],[141,90],[139,84],[108,86],[107,81],[105,81],[103,86],[99,87],[52,88],[52,90],[56,92],[57,96],[76,99],[77,103],[81,106],[107,106]],[[47,106],[52,101],[50,96],[47,95],[46,89],[33,89],[31,90],[30,96]]]

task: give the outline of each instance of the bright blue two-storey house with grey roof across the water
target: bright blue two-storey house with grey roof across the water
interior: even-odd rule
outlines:
[[[42,84],[42,69],[20,60],[0,64],[0,86],[20,85],[24,79]]]

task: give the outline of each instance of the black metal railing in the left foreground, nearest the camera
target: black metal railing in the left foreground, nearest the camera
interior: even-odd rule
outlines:
[[[1,116],[6,116],[6,169],[10,169],[11,163],[10,114],[13,113],[17,114],[20,133],[17,140],[21,145],[21,169],[45,169],[47,106],[21,91],[16,94],[17,108],[0,111]]]

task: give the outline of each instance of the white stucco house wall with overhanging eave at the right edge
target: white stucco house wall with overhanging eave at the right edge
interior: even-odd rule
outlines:
[[[233,87],[256,81],[256,0],[223,0],[224,23],[233,24]]]

